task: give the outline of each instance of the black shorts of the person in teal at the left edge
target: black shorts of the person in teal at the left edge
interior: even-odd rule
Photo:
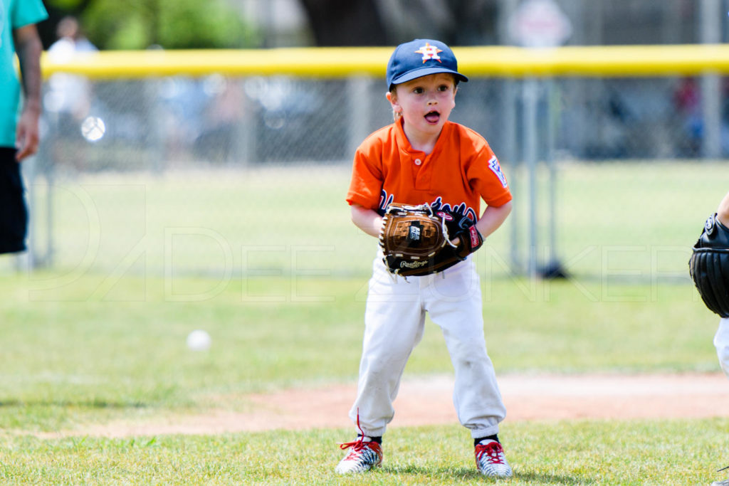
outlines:
[[[0,254],[26,249],[28,208],[15,149],[0,147]]]

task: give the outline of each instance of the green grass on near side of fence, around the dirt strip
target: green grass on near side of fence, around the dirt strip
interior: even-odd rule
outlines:
[[[36,275],[36,278],[41,275]],[[52,275],[47,275],[52,276]],[[336,442],[348,430],[271,431],[220,436],[94,436],[41,439],[112,420],[164,420],[170,414],[245,410],[246,393],[354,383],[364,306],[359,279],[312,281],[318,299],[295,301],[290,282],[236,280],[203,302],[165,299],[164,281],[123,278],[121,295],[146,289],[143,302],[85,297],[79,278],[56,299],[28,299],[35,280],[0,279],[5,296],[0,355],[0,479],[9,484],[354,484],[336,478]],[[179,282],[180,289],[205,281]],[[594,302],[573,283],[494,281],[486,333],[496,369],[510,372],[717,371],[716,319],[684,285],[655,289],[655,302]],[[596,283],[586,289],[598,292]],[[245,290],[244,290],[245,289]],[[650,286],[615,286],[647,295]],[[286,296],[283,302],[253,299]],[[193,353],[192,329],[211,333],[214,352]],[[443,339],[428,324],[406,375],[448,373]],[[728,384],[729,385],[729,384]],[[345,414],[346,410],[342,410]],[[305,420],[303,417],[302,420]],[[504,423],[515,467],[512,484],[701,484],[719,479],[729,421],[625,420]],[[470,484],[467,433],[460,426],[398,428],[375,484]],[[434,453],[432,448],[436,448]],[[293,456],[292,463],[285,458]],[[678,460],[676,456],[680,456]],[[367,479],[367,482],[370,482]]]

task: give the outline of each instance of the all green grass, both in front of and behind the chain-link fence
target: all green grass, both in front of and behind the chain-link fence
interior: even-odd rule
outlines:
[[[478,255],[497,372],[717,372],[717,318],[686,275],[687,248],[729,187],[711,171],[725,174],[711,164],[562,168],[560,249],[574,278],[510,275],[507,230]],[[302,173],[250,175],[96,176],[58,192],[55,244],[66,264],[0,276],[0,482],[484,482],[457,424],[398,428],[383,469],[351,479],[332,472],[350,430],[83,434],[112,420],[245,410],[252,392],[356,380],[373,242],[348,221],[346,173],[308,174],[300,193],[292,180]],[[209,248],[218,253],[201,256]],[[192,329],[211,334],[211,351],[186,348]],[[428,323],[405,373],[449,372]],[[54,431],[80,435],[44,438]],[[516,474],[509,484],[708,485],[729,477],[716,472],[729,465],[728,433],[726,418],[507,420],[501,436]]]

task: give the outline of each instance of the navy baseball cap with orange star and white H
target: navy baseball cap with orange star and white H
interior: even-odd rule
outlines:
[[[459,73],[450,47],[432,39],[415,39],[400,44],[392,52],[387,63],[387,87],[436,73],[451,73],[459,81],[468,81]]]

